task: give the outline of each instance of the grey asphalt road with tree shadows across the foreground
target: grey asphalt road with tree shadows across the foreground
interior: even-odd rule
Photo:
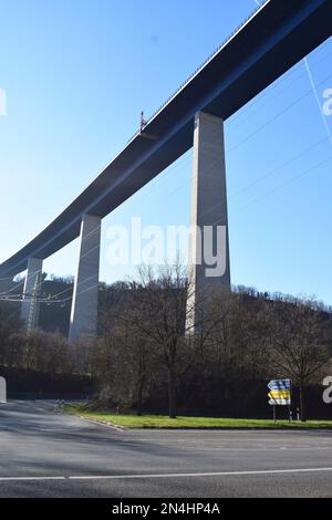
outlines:
[[[332,431],[121,431],[12,402],[0,497],[332,497]]]

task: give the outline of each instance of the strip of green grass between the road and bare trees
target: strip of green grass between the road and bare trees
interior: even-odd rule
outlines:
[[[310,429],[332,429],[332,420],[308,420],[307,423],[292,423],[288,420],[266,419],[230,419],[218,417],[184,417],[170,419],[164,415],[117,415],[107,410],[90,410],[86,405],[71,404],[61,406],[61,412],[71,415],[79,415],[86,419],[100,420],[123,428],[239,428],[239,429],[280,429],[280,428],[310,428]]]

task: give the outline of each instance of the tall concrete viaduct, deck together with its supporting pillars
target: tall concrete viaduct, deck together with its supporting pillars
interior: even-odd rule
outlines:
[[[191,223],[227,225],[224,122],[332,34],[332,0],[267,0],[148,121],[143,131],[40,235],[0,264],[0,278],[28,269],[22,318],[45,258],[81,238],[70,339],[94,335],[97,318],[101,220],[194,144]],[[197,291],[229,287],[227,269]]]

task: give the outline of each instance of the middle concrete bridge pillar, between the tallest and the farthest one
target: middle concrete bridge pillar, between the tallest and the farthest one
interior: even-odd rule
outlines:
[[[93,337],[97,329],[101,218],[84,215],[69,339]]]

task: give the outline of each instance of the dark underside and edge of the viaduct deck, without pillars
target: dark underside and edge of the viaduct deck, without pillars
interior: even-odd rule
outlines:
[[[137,133],[38,237],[0,264],[27,269],[79,237],[85,214],[105,217],[193,146],[195,114],[227,119],[331,35],[330,0],[270,0]]]

